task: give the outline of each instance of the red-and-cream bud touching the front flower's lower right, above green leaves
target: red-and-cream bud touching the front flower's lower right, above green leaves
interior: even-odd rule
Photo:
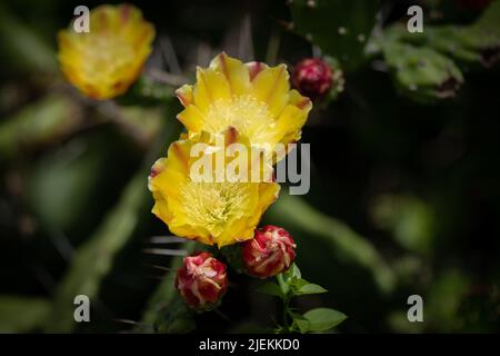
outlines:
[[[267,278],[287,270],[296,258],[296,244],[287,230],[268,225],[243,243],[242,257],[250,275]]]

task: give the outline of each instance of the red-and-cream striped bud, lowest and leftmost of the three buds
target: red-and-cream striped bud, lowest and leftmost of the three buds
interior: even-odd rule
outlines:
[[[217,307],[227,287],[226,265],[210,253],[184,257],[177,271],[176,288],[191,308],[200,312]]]

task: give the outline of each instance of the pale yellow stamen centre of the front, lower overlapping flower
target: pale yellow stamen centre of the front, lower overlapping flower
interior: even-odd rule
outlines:
[[[192,225],[202,226],[216,235],[223,225],[246,211],[251,184],[193,182],[181,187],[182,207]]]

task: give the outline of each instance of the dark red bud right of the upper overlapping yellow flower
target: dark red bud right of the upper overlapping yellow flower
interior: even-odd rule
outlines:
[[[332,86],[332,70],[319,58],[307,58],[297,63],[292,85],[301,95],[314,100],[323,97]]]

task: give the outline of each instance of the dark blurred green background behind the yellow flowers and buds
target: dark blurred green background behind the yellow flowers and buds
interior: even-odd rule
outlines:
[[[180,257],[148,249],[193,247],[154,238],[169,231],[150,214],[147,176],[181,130],[173,90],[222,50],[290,69],[328,55],[343,72],[344,90],[303,129],[310,192],[282,189],[264,216],[297,240],[302,275],[329,290],[296,307],[343,312],[340,333],[500,330],[500,13],[488,36],[463,30],[497,1],[131,2],[157,29],[154,51],[140,83],[110,101],[59,72],[57,32],[82,3],[0,4],[0,332],[151,330]],[[433,34],[394,30],[407,47],[392,51],[411,4]],[[230,278],[220,313],[166,315],[166,330],[272,326],[277,300]],[[91,323],[74,325],[81,288]],[[407,319],[412,294],[423,323]]]

